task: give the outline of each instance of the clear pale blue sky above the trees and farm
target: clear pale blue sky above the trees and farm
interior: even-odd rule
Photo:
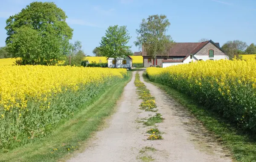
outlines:
[[[6,19],[33,0],[0,0],[0,46],[5,45]],[[44,1],[44,0],[43,0]],[[50,0],[47,0],[50,1]],[[175,42],[208,38],[223,45],[228,40],[256,43],[256,0],[53,0],[67,14],[73,40],[82,42],[86,54],[99,46],[108,26],[127,26],[132,51],[143,18],[165,14]]]

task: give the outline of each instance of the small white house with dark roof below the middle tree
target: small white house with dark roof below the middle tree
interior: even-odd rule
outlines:
[[[132,58],[127,56],[125,58],[116,58],[116,63],[114,58],[108,57],[108,68],[114,68],[116,64],[116,68],[131,68],[132,66]]]

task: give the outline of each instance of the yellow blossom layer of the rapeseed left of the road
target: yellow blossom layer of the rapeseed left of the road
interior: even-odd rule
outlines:
[[[62,87],[77,90],[80,84],[102,83],[111,76],[122,77],[121,72],[126,71],[69,66],[0,66],[0,105],[7,111],[13,107],[26,108],[28,96],[47,101],[49,94],[63,91]]]

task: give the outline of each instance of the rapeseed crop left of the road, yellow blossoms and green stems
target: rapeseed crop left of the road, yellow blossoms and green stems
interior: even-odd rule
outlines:
[[[44,134],[126,74],[121,68],[0,65],[0,149],[11,147],[14,136]]]

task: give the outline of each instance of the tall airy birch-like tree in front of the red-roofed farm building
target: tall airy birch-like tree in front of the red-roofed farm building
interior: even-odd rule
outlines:
[[[137,29],[138,34],[135,45],[144,48],[148,56],[154,59],[156,65],[157,54],[165,55],[168,49],[172,46],[173,40],[170,35],[166,34],[170,26],[166,15],[151,15],[147,20],[143,19],[140,24],[140,29]]]

